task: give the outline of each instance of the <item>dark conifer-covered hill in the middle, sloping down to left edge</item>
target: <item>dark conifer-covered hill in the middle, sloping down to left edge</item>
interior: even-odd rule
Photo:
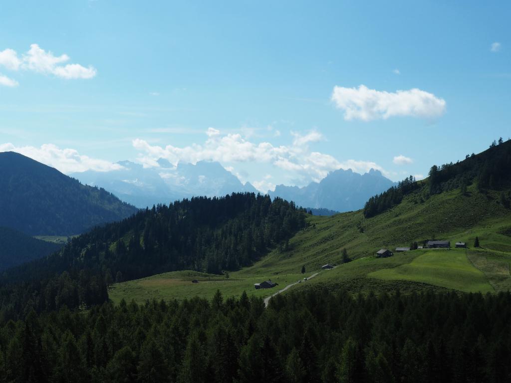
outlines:
[[[69,241],[0,279],[3,319],[104,302],[112,281],[175,270],[220,274],[259,259],[304,228],[305,212],[269,196],[198,197],[141,210]]]

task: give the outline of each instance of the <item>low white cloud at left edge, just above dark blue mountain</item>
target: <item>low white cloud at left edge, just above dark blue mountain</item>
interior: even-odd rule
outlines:
[[[40,148],[32,146],[15,147],[12,143],[0,143],[0,152],[20,153],[48,166],[55,167],[55,169],[65,174],[85,172],[87,170],[109,172],[123,169],[118,163],[90,158],[80,155],[74,149],[60,149],[51,143],[41,145]]]

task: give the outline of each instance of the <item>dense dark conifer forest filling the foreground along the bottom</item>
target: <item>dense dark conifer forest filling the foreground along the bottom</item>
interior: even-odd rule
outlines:
[[[124,301],[2,327],[12,382],[506,382],[511,294]]]

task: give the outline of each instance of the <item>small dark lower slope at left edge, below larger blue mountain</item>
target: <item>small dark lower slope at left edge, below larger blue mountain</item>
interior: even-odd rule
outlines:
[[[37,240],[8,227],[0,227],[0,271],[50,255],[60,248],[60,245]]]

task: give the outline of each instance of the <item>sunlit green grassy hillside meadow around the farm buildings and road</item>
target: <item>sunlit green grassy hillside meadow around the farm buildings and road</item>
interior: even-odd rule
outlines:
[[[306,286],[346,289],[354,294],[369,291],[402,292],[447,291],[499,292],[511,290],[511,211],[498,202],[497,192],[481,194],[469,187],[434,195],[426,201],[416,196],[376,217],[365,219],[362,211],[331,217],[309,216],[308,227],[289,242],[288,251],[273,249],[252,266],[223,276],[198,272],[171,272],[134,281],[116,283],[110,289],[112,301],[122,298],[144,302],[147,299],[211,298],[217,290],[224,296],[266,297],[297,279],[303,265],[305,276],[320,272],[314,279],[288,291]],[[473,249],[478,236],[481,248]],[[376,258],[380,248],[393,250],[413,241],[436,238],[466,242],[469,249],[415,250]],[[341,265],[346,248],[352,262]],[[338,265],[321,270],[324,264]],[[199,283],[192,284],[197,278]],[[254,290],[253,284],[265,279],[278,288]]]

